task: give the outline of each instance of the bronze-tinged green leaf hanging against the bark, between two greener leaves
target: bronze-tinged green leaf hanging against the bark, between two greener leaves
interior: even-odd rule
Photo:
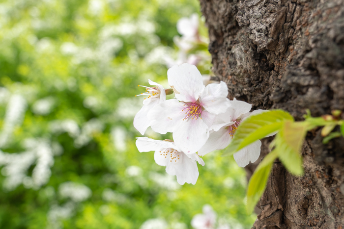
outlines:
[[[287,170],[296,176],[303,175],[303,162],[300,154],[307,133],[305,122],[287,121],[276,135],[275,151]]]

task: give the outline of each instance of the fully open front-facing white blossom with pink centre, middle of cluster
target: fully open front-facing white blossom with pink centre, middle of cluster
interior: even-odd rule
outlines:
[[[155,132],[172,132],[175,144],[184,153],[196,153],[209,137],[216,114],[230,106],[225,82],[203,85],[196,66],[182,64],[167,72],[176,99],[156,105],[148,113]],[[179,102],[180,101],[180,102]]]

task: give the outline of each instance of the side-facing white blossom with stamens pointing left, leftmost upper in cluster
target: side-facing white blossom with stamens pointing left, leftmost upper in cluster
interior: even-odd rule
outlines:
[[[147,113],[149,110],[151,110],[155,105],[164,102],[166,100],[166,92],[163,86],[160,84],[153,82],[152,80],[148,79],[148,82],[150,85],[156,85],[156,87],[148,87],[148,86],[142,86],[145,87],[146,92],[141,93],[141,95],[137,96],[148,96],[143,100],[143,107],[141,110],[135,115],[134,118],[134,127],[139,130],[141,134],[144,134],[146,129],[150,125],[150,121],[147,118]]]

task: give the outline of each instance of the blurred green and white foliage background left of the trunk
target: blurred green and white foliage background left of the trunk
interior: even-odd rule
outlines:
[[[251,228],[232,157],[207,154],[179,185],[135,146],[137,85],[167,85],[177,21],[194,13],[197,0],[0,0],[1,229],[191,229],[204,204]],[[204,44],[188,52],[211,74]]]

